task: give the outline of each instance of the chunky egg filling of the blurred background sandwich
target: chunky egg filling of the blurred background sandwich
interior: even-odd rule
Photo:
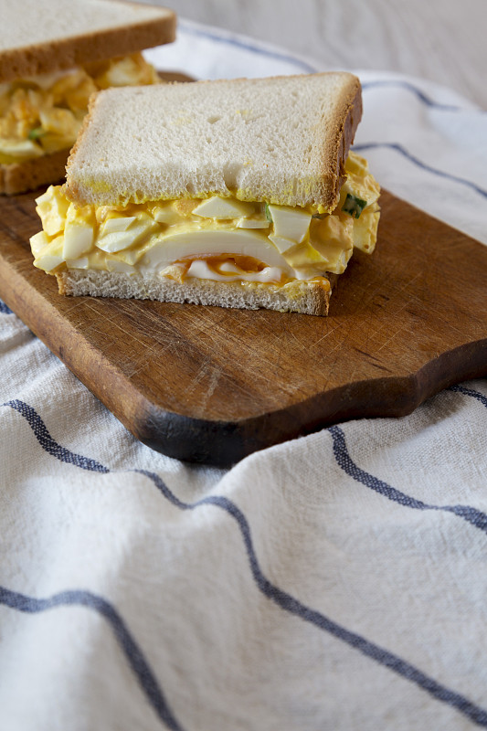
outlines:
[[[72,147],[93,92],[159,81],[136,53],[0,84],[0,164]]]

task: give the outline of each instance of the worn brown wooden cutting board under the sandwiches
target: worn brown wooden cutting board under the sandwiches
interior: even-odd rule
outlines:
[[[403,416],[487,375],[487,247],[386,192],[376,253],[355,254],[327,318],[61,297],[32,266],[34,197],[0,198],[0,297],[172,457],[228,465],[343,419]]]

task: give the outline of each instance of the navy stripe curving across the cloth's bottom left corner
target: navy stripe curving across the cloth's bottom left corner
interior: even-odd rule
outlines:
[[[157,683],[149,663],[145,660],[142,650],[132,638],[132,634],[120,614],[106,599],[96,594],[91,594],[90,591],[80,591],[78,589],[62,591],[48,599],[35,599],[33,597],[26,597],[25,594],[19,594],[16,591],[10,591],[10,589],[0,587],[0,604],[4,604],[5,607],[10,607],[10,609],[17,609],[18,611],[28,612],[30,614],[37,614],[48,609],[67,606],[87,607],[96,611],[110,624],[116,641],[127,658],[143,693],[147,696],[156,714],[172,731],[182,731],[182,726],[176,721],[175,716],[167,705],[164,694],[159,687],[159,683]]]

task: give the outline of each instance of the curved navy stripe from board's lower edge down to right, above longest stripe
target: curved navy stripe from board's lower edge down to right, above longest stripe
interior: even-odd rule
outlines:
[[[329,427],[328,431],[332,435],[333,439],[333,454],[337,463],[340,465],[342,470],[347,475],[353,477],[357,482],[362,482],[365,487],[369,487],[376,493],[384,495],[388,500],[392,500],[395,503],[404,505],[414,510],[439,510],[444,513],[453,513],[459,518],[463,518],[468,523],[471,523],[476,528],[487,533],[487,515],[482,511],[472,508],[470,505],[433,505],[429,503],[423,503],[421,500],[417,500],[406,493],[401,493],[395,487],[383,482],[375,477],[370,472],[365,472],[357,467],[355,461],[352,460],[346,447],[345,435],[343,429],[340,427]]]

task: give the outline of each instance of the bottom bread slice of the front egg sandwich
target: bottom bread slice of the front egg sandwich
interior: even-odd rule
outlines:
[[[56,274],[60,294],[121,297],[161,302],[235,307],[303,314],[328,314],[336,275],[327,275],[330,288],[317,281],[293,281],[285,286],[239,281],[188,279],[183,283],[167,277],[143,276],[100,270],[62,270]]]

